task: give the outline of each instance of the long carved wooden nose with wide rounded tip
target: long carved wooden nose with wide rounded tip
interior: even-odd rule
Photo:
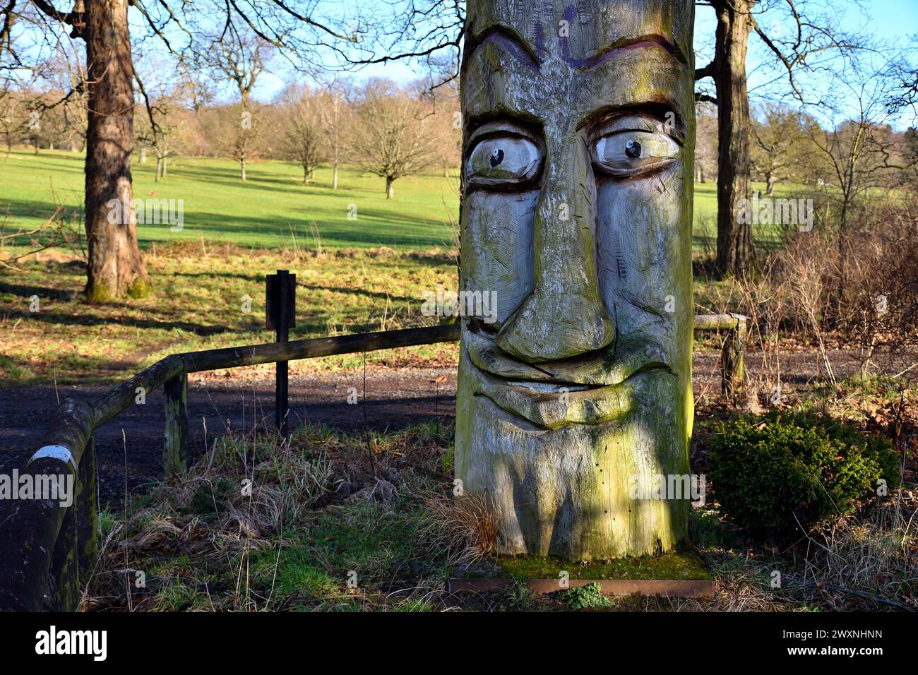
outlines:
[[[615,338],[596,277],[596,181],[579,133],[560,147],[549,143],[543,172],[532,293],[497,336],[502,350],[533,363],[601,349]]]

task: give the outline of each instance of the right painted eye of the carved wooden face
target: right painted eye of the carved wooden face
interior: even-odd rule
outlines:
[[[593,163],[615,176],[633,176],[662,169],[679,156],[679,145],[661,131],[615,131],[593,145]]]

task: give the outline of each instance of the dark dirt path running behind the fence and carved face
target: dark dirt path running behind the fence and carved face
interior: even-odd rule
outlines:
[[[856,368],[845,354],[832,354],[836,375]],[[757,360],[748,354],[747,369],[756,373]],[[818,377],[820,367],[813,353],[789,353],[782,358],[792,388],[805,387]],[[698,352],[693,362],[696,397],[716,394],[720,387],[720,357]],[[435,380],[445,376],[446,380]],[[322,422],[343,430],[397,429],[455,412],[455,368],[373,368],[321,377],[291,377],[290,417],[294,426]],[[114,384],[114,383],[113,383]],[[107,386],[51,385],[0,389],[0,472],[22,467],[38,448],[50,414],[60,399],[94,399]],[[348,403],[356,389],[358,402]],[[353,396],[352,396],[353,400]],[[192,457],[204,452],[213,438],[227,429],[251,429],[253,423],[274,420],[274,382],[196,375],[189,378],[189,427]],[[144,405],[134,405],[95,432],[102,501],[120,501],[127,489],[139,489],[151,478],[162,477],[162,391],[151,394]]]

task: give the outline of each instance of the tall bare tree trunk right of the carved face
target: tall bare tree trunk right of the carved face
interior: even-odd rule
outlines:
[[[745,57],[756,0],[716,6],[717,44],[717,269],[741,276],[752,256],[752,230],[736,218],[737,200],[749,197],[749,96]]]

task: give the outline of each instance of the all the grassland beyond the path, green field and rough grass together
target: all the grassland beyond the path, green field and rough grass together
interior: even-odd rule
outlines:
[[[6,230],[38,225],[55,202],[79,212],[80,155],[12,152],[0,156],[0,170],[12,177],[0,186]],[[64,249],[28,256],[15,273],[0,268],[0,386],[126,377],[178,351],[270,342],[263,328],[264,275],[277,268],[297,274],[294,338],[430,324],[420,314],[422,293],[441,283],[456,287],[455,178],[399,180],[396,197],[386,200],[381,181],[350,169],[341,172],[337,191],[330,189],[330,171],[319,169],[304,186],[292,163],[252,164],[246,183],[227,160],[176,161],[158,184],[151,171],[149,163],[135,166],[138,198],[155,192],[157,199],[185,200],[183,231],[138,228],[153,295],[85,304],[84,269],[78,255]],[[357,205],[355,221],[347,219],[349,204]],[[714,184],[697,186],[696,214],[703,220],[697,253],[713,246],[715,205]],[[699,311],[721,311],[730,293],[729,283],[697,284]],[[33,297],[38,311],[30,311]],[[246,297],[252,298],[249,313],[242,310]],[[455,351],[431,345],[369,358],[450,363]]]

